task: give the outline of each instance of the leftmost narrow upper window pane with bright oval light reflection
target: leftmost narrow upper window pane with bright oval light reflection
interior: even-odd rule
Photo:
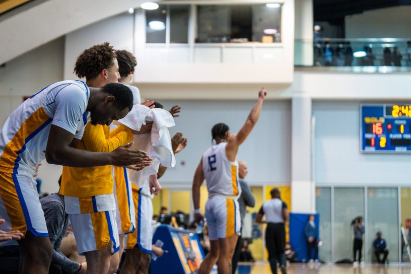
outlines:
[[[166,42],[166,19],[166,5],[160,5],[157,10],[146,10],[146,43]]]

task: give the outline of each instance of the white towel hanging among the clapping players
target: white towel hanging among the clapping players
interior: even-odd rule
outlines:
[[[146,116],[146,121],[153,121],[151,133],[134,135],[132,148],[147,152],[153,159],[150,166],[141,171],[134,171],[131,181],[143,187],[149,176],[158,173],[160,164],[165,167],[175,166],[175,157],[171,147],[169,127],[174,126],[174,118],[167,110],[152,109]]]

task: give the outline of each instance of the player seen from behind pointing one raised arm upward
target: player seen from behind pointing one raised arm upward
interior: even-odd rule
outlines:
[[[209,225],[210,252],[205,256],[198,271],[210,273],[217,262],[219,274],[231,274],[231,259],[240,234],[240,213],[237,198],[241,193],[238,184],[238,147],[246,140],[257,123],[266,91],[261,89],[258,101],[247,117],[245,124],[231,135],[228,125],[213,126],[212,136],[216,144],[209,148],[195,170],[192,194],[194,217],[203,220],[200,211],[200,186],[207,182],[209,198],[205,204],[205,218]]]

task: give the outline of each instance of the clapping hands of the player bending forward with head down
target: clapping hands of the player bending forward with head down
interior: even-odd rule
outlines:
[[[121,146],[110,153],[111,164],[113,166],[132,166],[132,165],[144,165],[146,162],[150,162],[152,159],[146,152],[140,150],[130,149],[132,142],[126,146]]]

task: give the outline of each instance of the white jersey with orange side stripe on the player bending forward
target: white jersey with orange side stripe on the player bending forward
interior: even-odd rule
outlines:
[[[34,174],[45,159],[51,125],[81,139],[90,114],[90,91],[82,81],[62,81],[40,90],[7,118],[0,132],[0,172]]]

